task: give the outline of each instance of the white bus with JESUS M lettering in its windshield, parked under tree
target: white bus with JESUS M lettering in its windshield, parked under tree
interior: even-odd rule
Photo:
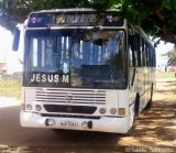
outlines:
[[[22,127],[130,134],[134,117],[152,106],[155,50],[113,10],[32,12],[23,65]]]

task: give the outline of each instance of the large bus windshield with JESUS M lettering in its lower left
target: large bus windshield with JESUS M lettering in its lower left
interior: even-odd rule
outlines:
[[[26,31],[24,86],[125,88],[122,30]]]

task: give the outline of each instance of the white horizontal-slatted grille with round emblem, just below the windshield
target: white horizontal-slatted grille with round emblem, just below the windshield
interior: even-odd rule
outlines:
[[[36,101],[105,105],[106,91],[92,89],[37,88]]]

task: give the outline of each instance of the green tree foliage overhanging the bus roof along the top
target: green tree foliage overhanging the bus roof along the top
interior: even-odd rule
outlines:
[[[0,0],[0,24],[12,31],[31,11],[82,7],[116,9],[150,35],[176,44],[176,0]]]

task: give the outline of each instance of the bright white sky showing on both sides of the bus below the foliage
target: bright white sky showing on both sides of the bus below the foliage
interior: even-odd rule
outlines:
[[[21,72],[22,65],[19,62],[19,58],[22,61],[22,51],[12,52],[12,34],[6,29],[0,26],[0,62],[8,63],[8,74],[12,74],[13,72]],[[173,50],[174,44],[161,43],[156,47],[156,65],[165,66],[167,65],[167,57],[163,56],[163,54]]]

